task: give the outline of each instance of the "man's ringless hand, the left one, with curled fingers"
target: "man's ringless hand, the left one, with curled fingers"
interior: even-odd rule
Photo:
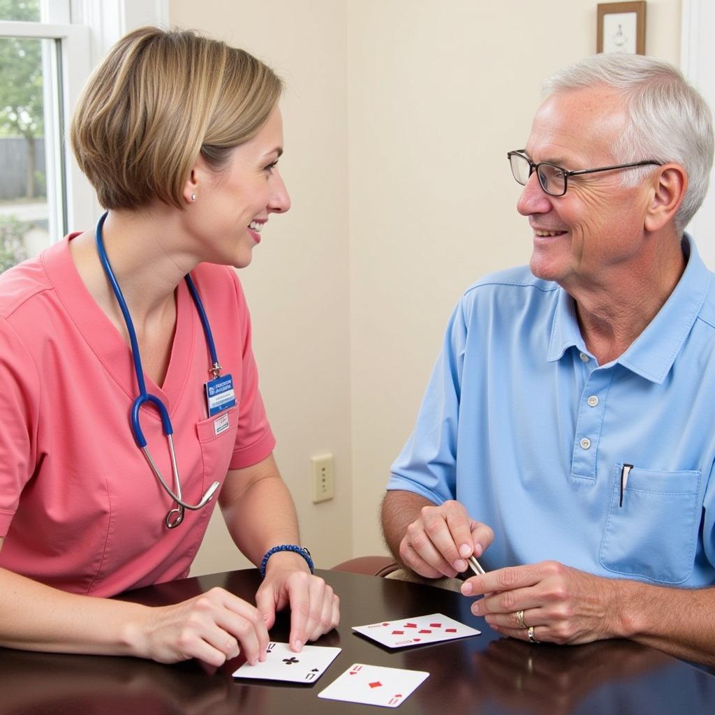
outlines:
[[[493,531],[470,518],[458,501],[423,506],[400,542],[400,560],[425,578],[452,578],[466,571],[466,559],[481,556],[493,538]]]

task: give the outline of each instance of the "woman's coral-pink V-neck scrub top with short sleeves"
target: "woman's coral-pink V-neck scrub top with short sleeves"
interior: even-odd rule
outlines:
[[[64,591],[112,596],[187,576],[217,497],[187,510],[177,528],[164,526],[174,504],[129,423],[138,393],[132,354],[77,273],[74,235],[0,276],[0,566]],[[192,277],[237,406],[207,416],[211,358],[184,281],[164,385],[145,380],[169,410],[184,499],[197,503],[227,470],[270,455],[275,439],[235,271],[201,264]],[[172,484],[156,410],[142,408],[141,424]]]

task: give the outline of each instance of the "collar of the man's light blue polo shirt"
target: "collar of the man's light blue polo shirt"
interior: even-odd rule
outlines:
[[[641,375],[646,380],[661,384],[678,355],[686,336],[693,327],[703,305],[711,280],[695,242],[689,234],[682,240],[688,260],[678,285],[646,329],[623,352],[616,363]],[[586,345],[576,320],[576,305],[568,293],[559,289],[558,302],[551,324],[551,340],[547,360],[560,360],[569,347],[582,352]]]

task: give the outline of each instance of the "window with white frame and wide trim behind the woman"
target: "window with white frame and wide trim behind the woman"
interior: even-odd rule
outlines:
[[[99,215],[64,137],[92,66],[167,0],[0,0],[0,272]]]

